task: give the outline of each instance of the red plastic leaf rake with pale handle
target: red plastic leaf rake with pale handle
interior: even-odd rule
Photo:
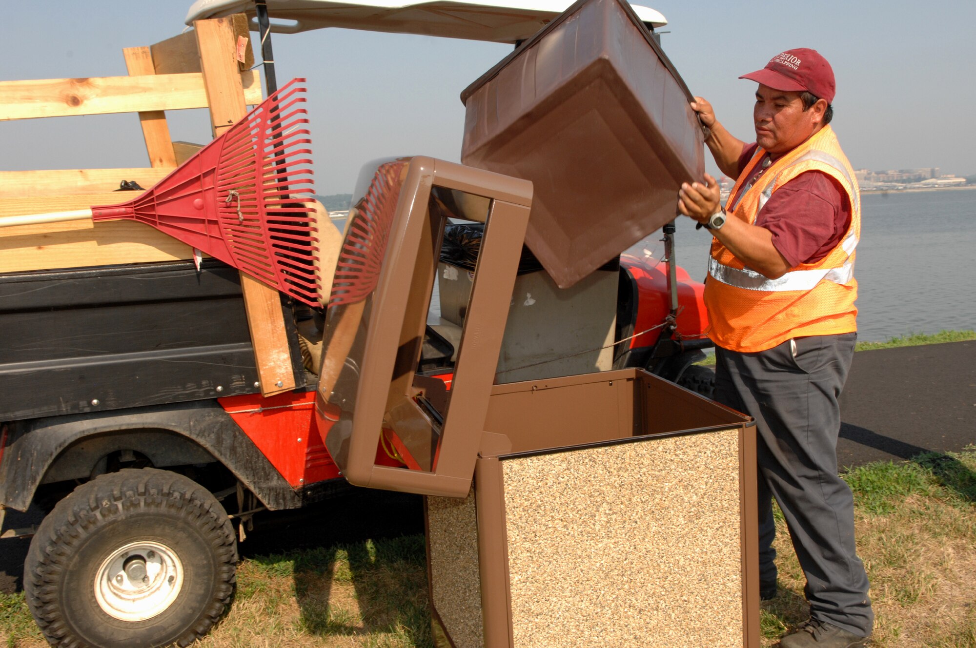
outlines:
[[[129,202],[0,219],[0,227],[129,220],[318,305],[305,79],[293,79]]]

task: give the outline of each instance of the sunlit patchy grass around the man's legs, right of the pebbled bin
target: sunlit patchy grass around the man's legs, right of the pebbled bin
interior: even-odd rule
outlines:
[[[854,494],[858,554],[871,580],[871,645],[976,648],[976,446],[842,476]],[[763,646],[808,615],[782,516],[776,547],[781,593],[763,603]]]

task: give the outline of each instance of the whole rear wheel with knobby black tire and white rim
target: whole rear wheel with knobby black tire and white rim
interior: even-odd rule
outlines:
[[[79,486],[44,518],[23,588],[54,646],[186,646],[234,590],[224,506],[183,475],[126,468]]]

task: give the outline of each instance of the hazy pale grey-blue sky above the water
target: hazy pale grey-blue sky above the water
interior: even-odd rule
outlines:
[[[639,3],[669,20],[665,51],[738,137],[752,141],[755,84],[737,77],[810,47],[834,65],[834,130],[855,168],[976,174],[973,0]],[[190,4],[0,0],[0,80],[124,75],[122,48],[180,33]],[[350,192],[359,167],[377,157],[457,160],[459,95],[510,50],[346,29],[273,38],[279,82],[308,78],[321,194]],[[168,116],[174,140],[209,141],[203,111]],[[0,122],[0,170],[147,165],[132,114]]]

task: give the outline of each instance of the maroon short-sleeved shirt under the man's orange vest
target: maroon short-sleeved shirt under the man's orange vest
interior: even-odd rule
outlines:
[[[757,148],[754,142],[746,146],[739,158],[740,176]],[[756,165],[743,187],[763,171],[761,165]],[[742,188],[732,197],[733,201],[741,192]],[[840,242],[850,222],[847,192],[821,171],[807,171],[776,189],[755,219],[756,225],[772,232],[773,246],[791,267],[824,259]]]

